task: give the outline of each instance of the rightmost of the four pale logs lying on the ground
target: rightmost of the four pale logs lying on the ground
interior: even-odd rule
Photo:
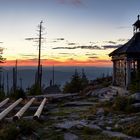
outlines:
[[[39,119],[39,117],[41,115],[41,112],[43,110],[43,107],[44,107],[44,105],[46,103],[46,100],[47,100],[46,98],[43,99],[43,101],[41,102],[40,106],[38,107],[36,113],[34,114],[33,119],[35,119],[35,120]]]

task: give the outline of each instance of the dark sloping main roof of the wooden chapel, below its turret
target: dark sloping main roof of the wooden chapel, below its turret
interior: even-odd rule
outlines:
[[[135,35],[127,43],[111,52],[109,56],[134,53],[140,54],[140,32],[135,33]]]

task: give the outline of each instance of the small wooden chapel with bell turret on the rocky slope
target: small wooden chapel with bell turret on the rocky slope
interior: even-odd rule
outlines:
[[[109,54],[113,62],[113,85],[128,89],[140,73],[140,19],[133,24],[134,36]]]

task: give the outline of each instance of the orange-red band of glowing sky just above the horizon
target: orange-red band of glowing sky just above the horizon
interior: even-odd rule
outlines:
[[[36,59],[18,60],[18,66],[37,66]],[[96,67],[112,67],[110,60],[95,59],[95,60],[65,60],[58,61],[53,59],[41,60],[43,66],[96,66]],[[6,60],[5,63],[1,63],[0,66],[15,66],[15,60]]]

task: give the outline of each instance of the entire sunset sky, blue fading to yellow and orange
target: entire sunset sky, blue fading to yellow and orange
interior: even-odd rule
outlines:
[[[108,54],[133,35],[140,0],[0,0],[0,47],[12,66],[112,66]]]

